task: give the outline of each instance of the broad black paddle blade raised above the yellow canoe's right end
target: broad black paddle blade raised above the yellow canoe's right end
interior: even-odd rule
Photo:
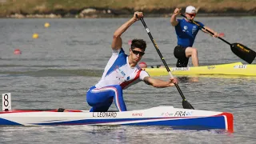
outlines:
[[[250,50],[247,46],[244,46],[241,43],[232,43],[230,46],[233,53],[239,58],[242,58],[248,63],[254,61],[254,58],[256,57],[256,52],[254,50]]]

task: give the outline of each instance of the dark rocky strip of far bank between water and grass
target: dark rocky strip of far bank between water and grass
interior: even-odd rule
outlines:
[[[183,8],[184,10],[186,7]],[[184,11],[183,10],[183,11]],[[110,8],[83,8],[80,10],[48,10],[42,12],[27,13],[23,11],[12,12],[10,14],[2,15],[0,18],[130,18],[134,14],[134,9],[110,9]],[[144,13],[146,17],[170,17],[174,8],[161,9],[143,9],[139,10]],[[223,16],[256,16],[256,10],[242,10],[242,9],[223,9],[223,10],[208,10],[200,9],[198,7],[198,17],[223,17]]]

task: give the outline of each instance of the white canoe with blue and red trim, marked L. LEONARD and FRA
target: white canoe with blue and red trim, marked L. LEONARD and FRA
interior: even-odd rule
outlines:
[[[6,106],[3,109],[0,112],[0,126],[137,125],[171,126],[174,129],[186,130],[223,129],[233,132],[234,125],[233,114],[230,113],[177,109],[173,106],[156,106],[126,112],[8,110]]]

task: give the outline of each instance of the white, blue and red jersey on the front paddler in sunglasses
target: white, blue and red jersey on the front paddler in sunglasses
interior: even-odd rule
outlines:
[[[113,50],[112,56],[107,62],[101,80],[95,85],[102,88],[111,85],[120,85],[122,89],[143,81],[149,74],[142,70],[138,65],[130,67],[128,56],[123,49]]]

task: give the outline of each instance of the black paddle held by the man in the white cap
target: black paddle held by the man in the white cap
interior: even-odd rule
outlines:
[[[182,17],[186,18],[184,14],[181,14]],[[194,22],[194,20],[186,18],[190,22],[193,22],[195,25],[199,26],[201,29],[206,30],[203,26],[199,25],[197,22]],[[213,34],[210,30],[206,30],[210,34]],[[256,52],[254,50],[250,50],[247,46],[242,45],[241,43],[230,43],[227,42],[225,39],[218,37],[223,42],[226,42],[228,45],[230,45],[231,50],[234,54],[236,54],[239,58],[242,58],[244,61],[251,63],[254,61],[254,58],[256,57]]]

